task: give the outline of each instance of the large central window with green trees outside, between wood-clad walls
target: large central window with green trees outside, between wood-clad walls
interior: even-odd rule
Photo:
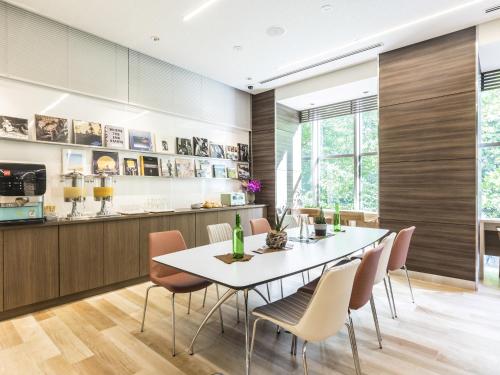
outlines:
[[[302,115],[298,206],[378,210],[378,110],[370,109]]]

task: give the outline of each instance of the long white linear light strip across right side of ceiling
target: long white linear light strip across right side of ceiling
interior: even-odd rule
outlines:
[[[318,53],[316,55],[309,56],[309,57],[306,57],[304,59],[300,59],[300,60],[293,61],[291,63],[287,63],[285,65],[280,66],[278,68],[278,70],[289,69],[291,67],[307,63],[307,62],[309,62],[311,60],[316,60],[316,59],[318,59],[320,57],[323,57],[325,55],[329,55],[329,54],[331,54],[333,52],[336,52],[336,51],[339,51],[339,50],[343,50],[343,49],[352,47],[353,45],[355,45],[357,43],[365,43],[365,42],[368,42],[368,41],[373,40],[373,39],[378,39],[378,38],[381,38],[381,37],[386,36],[388,34],[392,34],[392,33],[395,33],[397,31],[401,31],[401,30],[407,29],[409,27],[416,26],[416,25],[421,24],[423,22],[428,22],[428,21],[434,20],[436,18],[439,18],[439,17],[445,16],[445,15],[457,12],[459,10],[471,7],[472,5],[479,4],[479,3],[483,2],[483,1],[484,0],[472,0],[472,1],[469,1],[467,3],[461,4],[461,5],[457,5],[457,6],[454,6],[454,7],[445,9],[445,10],[442,10],[440,12],[436,12],[436,13],[430,14],[428,16],[417,18],[417,19],[415,19],[413,21],[400,24],[400,25],[392,27],[390,29],[386,29],[386,30],[380,31],[380,32],[375,33],[375,34],[368,35],[366,37],[356,39],[356,40],[354,40],[352,42],[349,42],[349,43],[346,43],[346,44],[344,44],[342,46],[339,46],[339,47],[336,47],[336,48],[333,48],[333,49],[330,49],[330,50],[327,50],[327,51],[320,52],[320,53]]]

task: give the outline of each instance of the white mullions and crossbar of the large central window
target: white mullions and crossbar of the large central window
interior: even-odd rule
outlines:
[[[377,118],[378,118],[378,110],[374,111],[377,111]],[[324,202],[323,204],[320,202],[320,195],[321,195],[320,174],[321,174],[322,163],[338,159],[351,158],[353,161],[353,176],[354,176],[354,187],[353,187],[354,206],[352,207],[352,209],[362,210],[361,166],[363,158],[368,156],[378,157],[379,154],[378,145],[376,151],[364,151],[364,152],[361,151],[362,125],[363,125],[362,116],[364,113],[365,112],[362,111],[349,115],[353,116],[354,120],[354,132],[353,132],[354,148],[352,153],[347,153],[347,154],[343,153],[343,154],[325,155],[323,153],[323,140],[322,140],[322,130],[321,130],[322,129],[321,122],[323,120],[313,120],[307,123],[308,126],[312,126],[312,140],[311,140],[312,150],[310,157],[308,156],[302,158],[302,163],[310,163],[311,180],[312,180],[311,183],[313,186],[313,202],[315,206],[319,207],[321,205],[325,208],[328,207],[328,204],[325,205]],[[377,174],[378,174],[378,169],[377,169]],[[378,204],[377,204],[377,211],[378,211]]]

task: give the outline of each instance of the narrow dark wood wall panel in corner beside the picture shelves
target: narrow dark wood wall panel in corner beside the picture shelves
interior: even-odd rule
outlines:
[[[274,90],[252,96],[252,175],[262,181],[257,203],[268,205],[268,218],[274,220],[276,205]]]

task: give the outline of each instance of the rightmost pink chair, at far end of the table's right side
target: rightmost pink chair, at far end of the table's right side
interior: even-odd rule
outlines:
[[[408,275],[408,268],[406,267],[406,258],[408,257],[408,251],[410,249],[410,242],[415,232],[415,227],[409,227],[401,229],[394,239],[394,244],[392,245],[391,256],[389,258],[389,263],[387,264],[387,279],[389,280],[389,289],[391,291],[392,306],[394,309],[393,318],[397,318],[398,314],[396,312],[396,304],[394,302],[394,294],[392,292],[391,277],[389,272],[397,271],[401,268],[405,270],[406,279],[408,280],[408,286],[410,287],[410,294],[412,303],[415,303],[415,298],[413,297],[413,289],[411,287],[410,276]]]

